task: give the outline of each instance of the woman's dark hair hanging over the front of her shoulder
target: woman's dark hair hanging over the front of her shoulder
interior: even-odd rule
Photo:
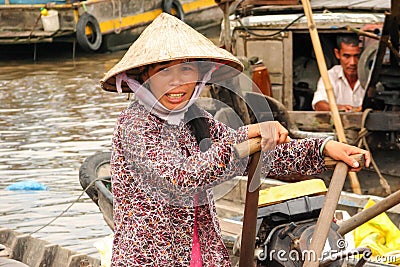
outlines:
[[[207,151],[212,145],[208,118],[204,117],[203,112],[196,104],[193,104],[185,113],[184,121],[196,137],[200,150]]]

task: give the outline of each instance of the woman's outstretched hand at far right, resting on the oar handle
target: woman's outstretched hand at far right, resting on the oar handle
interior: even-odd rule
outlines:
[[[351,167],[350,171],[361,170],[360,164],[355,159],[350,157],[351,155],[364,154],[365,167],[369,167],[369,164],[371,162],[371,155],[368,151],[332,140],[326,143],[323,153],[324,155],[329,156],[335,160],[343,161]]]

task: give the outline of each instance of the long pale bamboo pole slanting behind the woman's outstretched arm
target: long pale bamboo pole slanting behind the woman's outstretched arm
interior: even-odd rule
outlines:
[[[342,125],[342,121],[340,120],[339,110],[336,105],[336,98],[333,92],[332,84],[329,80],[328,69],[326,67],[324,53],[322,51],[321,42],[319,40],[317,26],[314,23],[314,19],[312,16],[312,10],[309,0],[302,0],[304,13],[307,17],[308,29],[310,31],[311,41],[313,43],[315,56],[317,58],[318,69],[321,73],[322,81],[324,82],[326,94],[328,96],[329,107],[331,110],[331,116],[333,119],[333,123],[335,125],[335,129],[338,135],[338,139],[342,143],[347,143],[346,136],[344,134],[344,129]],[[357,174],[354,172],[349,172],[350,184],[354,193],[361,194],[360,183],[357,178]]]

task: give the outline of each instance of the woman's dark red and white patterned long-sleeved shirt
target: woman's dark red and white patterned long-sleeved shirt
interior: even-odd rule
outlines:
[[[230,266],[212,188],[246,174],[247,159],[234,145],[248,139],[246,126],[233,130],[204,111],[212,145],[201,152],[187,125],[170,125],[137,101],[116,124],[111,157],[114,196],[112,266],[189,266],[194,195],[203,266]],[[325,170],[323,139],[303,139],[263,153],[264,175],[311,175]]]

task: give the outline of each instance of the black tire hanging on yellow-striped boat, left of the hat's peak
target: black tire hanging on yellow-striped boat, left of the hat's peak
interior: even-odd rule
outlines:
[[[90,35],[86,35],[86,27],[91,29]],[[76,24],[76,40],[80,47],[88,52],[97,51],[101,46],[102,39],[97,19],[89,13],[82,14]]]

